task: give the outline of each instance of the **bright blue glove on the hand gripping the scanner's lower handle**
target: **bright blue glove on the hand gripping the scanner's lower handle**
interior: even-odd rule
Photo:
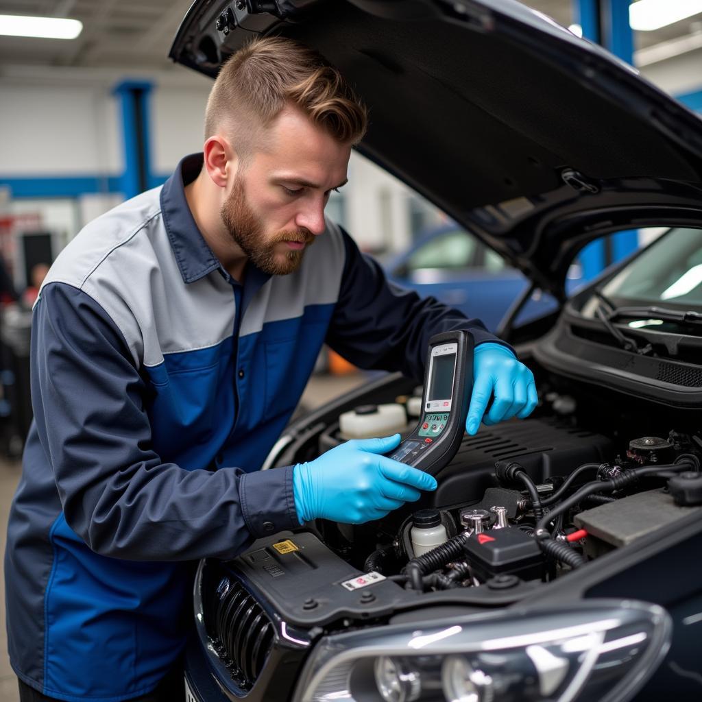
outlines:
[[[418,500],[420,490],[435,490],[437,482],[428,473],[380,455],[397,444],[399,434],[354,439],[294,466],[293,495],[300,524],[317,517],[363,524]]]

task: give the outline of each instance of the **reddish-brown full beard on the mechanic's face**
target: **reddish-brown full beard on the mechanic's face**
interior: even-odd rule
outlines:
[[[314,243],[314,234],[304,227],[267,234],[260,218],[246,202],[244,183],[239,177],[234,180],[220,216],[232,239],[251,263],[270,275],[287,275],[298,270],[307,246]],[[277,245],[285,241],[300,241],[307,246],[299,251],[276,251]]]

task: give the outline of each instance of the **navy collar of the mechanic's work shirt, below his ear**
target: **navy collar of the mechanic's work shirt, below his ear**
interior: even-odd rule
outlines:
[[[221,267],[197,228],[185,199],[185,185],[197,178],[202,160],[202,154],[190,154],[181,159],[161,188],[161,213],[166,233],[185,283],[193,283]]]

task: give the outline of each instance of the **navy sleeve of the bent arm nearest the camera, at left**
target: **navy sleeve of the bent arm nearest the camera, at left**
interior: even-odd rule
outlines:
[[[32,325],[32,405],[65,518],[102,555],[230,558],[253,538],[299,527],[292,468],[247,475],[162,463],[147,383],[102,307],[44,287]]]

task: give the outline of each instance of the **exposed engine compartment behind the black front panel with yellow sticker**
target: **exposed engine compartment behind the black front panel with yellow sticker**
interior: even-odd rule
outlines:
[[[397,399],[411,406],[411,397]],[[465,435],[421,503],[371,525],[324,523],[317,536],[408,590],[507,590],[553,581],[700,509],[702,439],[682,420],[667,425],[672,411],[551,388],[535,415]],[[635,433],[656,418],[656,434]],[[331,423],[319,449],[346,438]]]

